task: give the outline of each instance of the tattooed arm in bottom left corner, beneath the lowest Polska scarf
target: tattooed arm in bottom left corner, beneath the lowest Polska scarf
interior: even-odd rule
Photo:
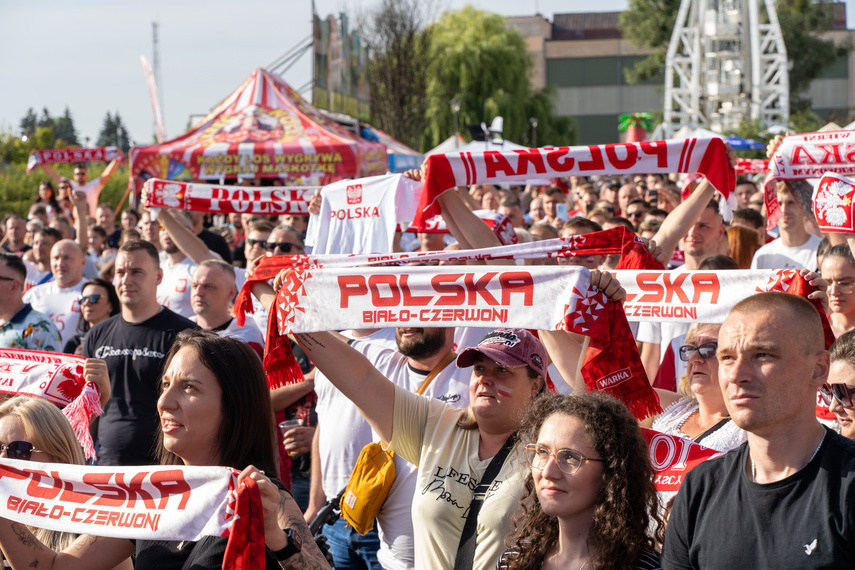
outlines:
[[[0,519],[0,549],[12,568],[93,570],[112,568],[134,553],[124,538],[81,535],[63,552],[54,552],[38,541],[26,525]]]

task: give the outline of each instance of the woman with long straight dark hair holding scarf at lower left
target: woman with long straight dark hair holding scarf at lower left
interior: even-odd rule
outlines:
[[[290,493],[265,475],[276,473],[276,426],[264,370],[249,345],[208,331],[182,332],[167,355],[160,393],[161,463],[242,470],[238,482],[251,477],[261,492],[266,568],[328,568]],[[138,569],[220,569],[228,540],[207,536],[179,543],[84,535],[57,553],[21,527],[0,519],[0,548],[13,568],[107,569],[136,553]],[[301,540],[293,538],[295,533]]]

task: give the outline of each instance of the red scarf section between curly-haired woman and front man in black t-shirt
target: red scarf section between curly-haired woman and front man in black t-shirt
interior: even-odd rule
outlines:
[[[647,440],[650,463],[656,472],[654,479],[656,490],[663,504],[677,494],[686,474],[721,452],[699,445],[690,439],[668,435],[656,430],[641,428],[641,434]]]

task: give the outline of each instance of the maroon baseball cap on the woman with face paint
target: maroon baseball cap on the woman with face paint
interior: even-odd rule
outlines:
[[[457,367],[472,366],[477,353],[507,368],[531,366],[535,372],[546,377],[546,349],[526,329],[496,329],[490,332],[478,346],[470,346],[458,355]]]

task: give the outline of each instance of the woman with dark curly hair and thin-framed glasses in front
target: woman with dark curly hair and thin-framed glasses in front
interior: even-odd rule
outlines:
[[[623,404],[603,394],[544,395],[521,434],[531,442],[531,472],[500,568],[660,567],[654,471]]]

